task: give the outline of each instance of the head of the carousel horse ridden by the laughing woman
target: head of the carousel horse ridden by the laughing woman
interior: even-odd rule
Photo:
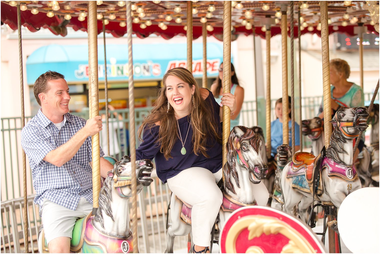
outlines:
[[[249,180],[257,184],[268,173],[268,166],[261,158],[262,142],[260,138],[249,128],[235,126],[230,133],[227,142],[227,167],[226,179],[231,181],[232,175],[239,186],[239,176],[236,167],[249,171]],[[228,186],[228,184],[227,184]]]

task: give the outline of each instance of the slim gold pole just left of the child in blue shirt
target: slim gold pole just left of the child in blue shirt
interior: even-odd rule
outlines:
[[[265,32],[266,40],[266,156],[271,157],[271,28]]]

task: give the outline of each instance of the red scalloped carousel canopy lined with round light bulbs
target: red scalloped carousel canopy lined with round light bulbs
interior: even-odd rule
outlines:
[[[1,21],[17,30],[17,1],[1,1]],[[21,23],[30,31],[41,27],[55,35],[65,36],[66,27],[87,31],[88,1],[21,1]],[[133,33],[145,38],[154,33],[169,39],[186,35],[187,1],[132,2]],[[201,36],[202,24],[207,25],[208,35],[222,40],[223,1],[192,1],[193,37]],[[281,11],[289,8],[290,1],[232,1],[232,34],[265,37],[281,33]],[[114,37],[127,33],[125,1],[97,1],[98,33],[105,22],[106,32]],[[294,1],[294,18],[297,25],[301,13],[301,33],[320,35],[319,1]],[[289,16],[288,14],[288,24]],[[378,32],[378,1],[328,1],[329,33],[344,32],[355,35],[354,27],[364,25],[369,32]],[[297,35],[294,29],[294,36]]]

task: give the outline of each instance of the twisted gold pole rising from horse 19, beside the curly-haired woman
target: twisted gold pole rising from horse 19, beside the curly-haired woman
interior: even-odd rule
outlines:
[[[323,117],[325,119],[325,146],[328,148],[331,136],[331,91],[330,91],[330,55],[327,2],[320,1],[322,75],[323,75]],[[335,246],[334,246],[335,247]]]

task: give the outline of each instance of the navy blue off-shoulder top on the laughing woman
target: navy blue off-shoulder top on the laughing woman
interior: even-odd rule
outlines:
[[[209,95],[205,99],[206,104],[213,111],[213,116],[215,118],[215,123],[217,125],[218,134],[222,137],[222,127],[220,124],[220,106],[215,102],[212,92],[209,91]],[[200,119],[202,120],[202,119]],[[185,116],[178,119],[179,129],[181,130],[182,141],[186,137],[186,133],[190,124],[190,117]],[[175,123],[177,125],[177,123]],[[222,144],[217,142],[215,138],[209,134],[204,138],[207,138],[207,155],[209,158],[205,157],[201,152],[198,155],[194,154],[193,151],[193,128],[190,126],[188,137],[185,142],[186,154],[181,154],[182,143],[179,140],[177,133],[173,133],[173,138],[176,139],[173,149],[171,151],[171,156],[173,158],[165,159],[164,154],[160,152],[160,144],[158,140],[158,131],[160,129],[159,125],[154,125],[150,129],[144,129],[142,134],[142,143],[139,148],[136,149],[136,160],[141,159],[155,159],[156,171],[158,178],[166,183],[166,180],[177,175],[180,171],[190,168],[190,167],[202,167],[210,170],[212,173],[216,173],[220,168],[222,168]]]

